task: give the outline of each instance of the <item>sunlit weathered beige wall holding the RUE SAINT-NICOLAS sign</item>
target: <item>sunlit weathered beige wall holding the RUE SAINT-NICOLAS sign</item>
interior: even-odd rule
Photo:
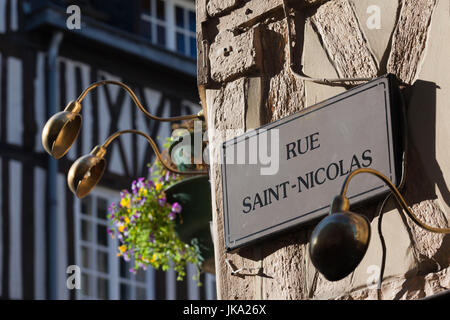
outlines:
[[[293,68],[313,77],[376,77],[403,82],[409,121],[408,205],[426,223],[450,219],[450,2],[445,0],[289,1]],[[291,70],[282,0],[197,0],[198,84],[209,126],[213,228],[221,299],[415,299],[450,289],[450,236],[432,234],[390,201],[382,234],[381,291],[368,287],[381,264],[376,205],[372,239],[358,268],[329,282],[309,261],[314,226],[241,249],[224,249],[220,145],[345,91],[298,78]],[[229,131],[230,132],[230,131]],[[258,268],[231,275],[225,263]]]

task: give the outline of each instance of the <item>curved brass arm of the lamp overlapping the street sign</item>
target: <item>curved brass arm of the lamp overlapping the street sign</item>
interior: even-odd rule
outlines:
[[[350,183],[350,180],[354,176],[356,176],[357,174],[360,174],[360,173],[370,173],[370,174],[373,174],[373,175],[377,176],[381,180],[383,180],[389,186],[389,188],[392,190],[392,193],[394,194],[395,198],[397,199],[397,201],[401,205],[401,207],[406,211],[408,216],[419,227],[421,227],[421,228],[423,228],[425,230],[431,231],[431,232],[436,232],[436,233],[450,233],[450,228],[435,228],[435,227],[431,227],[431,226],[423,223],[422,221],[420,221],[419,218],[417,218],[417,216],[408,207],[408,205],[405,202],[405,199],[402,197],[402,195],[400,194],[398,189],[394,186],[394,184],[387,177],[385,177],[382,173],[380,173],[380,172],[378,172],[376,170],[373,170],[373,169],[361,168],[361,169],[355,170],[352,173],[350,173],[347,176],[347,179],[345,180],[344,185],[342,186],[341,197],[343,199],[347,199],[346,193],[347,193],[347,189],[348,189],[348,185]],[[344,200],[344,202],[345,202],[344,205],[348,205],[348,200]]]

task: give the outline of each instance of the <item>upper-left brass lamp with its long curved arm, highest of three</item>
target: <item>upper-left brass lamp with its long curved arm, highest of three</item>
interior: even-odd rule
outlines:
[[[94,88],[102,85],[112,84],[125,89],[133,99],[136,106],[147,117],[156,121],[180,121],[189,119],[202,119],[203,112],[200,111],[196,115],[160,118],[150,114],[141,104],[136,94],[127,85],[119,81],[104,80],[91,84],[75,101],[69,102],[64,111],[56,113],[51,117],[42,130],[42,145],[45,151],[55,159],[62,158],[70,149],[72,144],[78,137],[81,129],[82,118],[80,115],[82,109],[82,102],[86,95]]]

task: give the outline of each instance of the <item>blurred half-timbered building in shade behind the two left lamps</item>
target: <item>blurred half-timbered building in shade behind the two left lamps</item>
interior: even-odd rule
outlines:
[[[72,4],[79,28],[68,24]],[[71,163],[111,133],[165,137],[170,123],[145,118],[125,91],[104,86],[84,100],[82,131],[66,157],[52,162],[41,144],[52,104],[59,111],[103,79],[127,83],[155,115],[198,112],[194,8],[188,0],[0,0],[0,298],[215,298],[211,274],[198,287],[193,268],[178,282],[173,271],[131,274],[116,257],[106,210],[146,176],[154,155],[145,139],[114,143],[89,197],[77,199],[66,183]],[[81,268],[79,290],[66,284],[71,265]]]

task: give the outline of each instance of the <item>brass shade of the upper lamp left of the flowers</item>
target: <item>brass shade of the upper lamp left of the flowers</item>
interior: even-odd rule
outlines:
[[[42,130],[42,145],[53,158],[62,158],[78,137],[81,128],[81,106],[71,102],[64,111],[52,116]]]

